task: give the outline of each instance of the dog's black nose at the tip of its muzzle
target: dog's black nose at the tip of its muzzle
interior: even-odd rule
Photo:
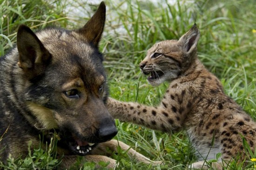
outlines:
[[[117,134],[117,129],[115,127],[115,123],[101,126],[101,128],[99,129],[99,138],[102,141],[108,141],[113,137],[115,137],[116,134]]]

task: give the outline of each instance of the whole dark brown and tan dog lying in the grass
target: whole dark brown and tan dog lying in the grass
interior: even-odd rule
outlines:
[[[61,168],[72,167],[78,156],[83,156],[81,165],[105,161],[114,168],[108,149],[117,152],[119,146],[140,162],[154,163],[111,140],[117,129],[105,106],[107,76],[98,49],[105,16],[101,2],[77,30],[46,28],[34,33],[19,27],[16,47],[0,58],[0,161],[24,158],[29,149],[46,146],[57,133]]]

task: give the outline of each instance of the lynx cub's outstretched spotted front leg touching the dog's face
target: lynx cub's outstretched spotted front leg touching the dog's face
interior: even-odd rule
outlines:
[[[131,102],[120,102],[113,98],[108,98],[108,111],[114,118],[123,122],[130,122],[146,126],[150,129],[171,133],[179,130],[182,126],[184,114],[180,112],[184,109],[178,105],[167,105],[167,102],[158,106],[145,106]]]

